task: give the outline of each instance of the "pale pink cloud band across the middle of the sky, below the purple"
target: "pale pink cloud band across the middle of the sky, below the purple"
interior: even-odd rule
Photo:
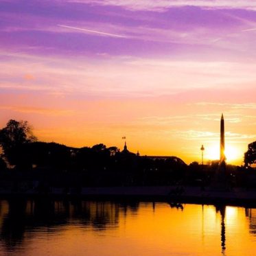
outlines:
[[[220,89],[223,86],[234,91],[234,84],[254,84],[256,80],[253,73],[255,65],[250,63],[175,61],[127,56],[110,56],[91,62],[90,58],[67,59],[22,53],[2,56],[8,56],[9,59],[0,64],[1,88],[23,91],[152,97],[196,89]],[[36,79],[24,79],[27,78],[26,74]],[[198,97],[198,94],[194,95]],[[233,104],[230,107],[256,108],[254,103]]]

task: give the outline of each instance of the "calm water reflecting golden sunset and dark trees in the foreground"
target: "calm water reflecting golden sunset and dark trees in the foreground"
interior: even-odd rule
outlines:
[[[256,209],[0,201],[0,255],[255,255]]]

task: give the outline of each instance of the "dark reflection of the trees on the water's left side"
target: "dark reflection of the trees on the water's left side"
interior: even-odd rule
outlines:
[[[119,212],[126,216],[130,211],[136,214],[138,202],[86,202],[52,200],[8,200],[0,201],[0,236],[7,249],[21,246],[25,232],[47,228],[49,232],[61,231],[68,224],[95,231],[115,228]]]

